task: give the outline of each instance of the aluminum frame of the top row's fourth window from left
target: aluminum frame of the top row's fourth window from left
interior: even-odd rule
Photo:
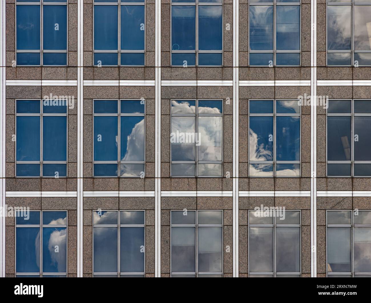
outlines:
[[[266,0],[265,2],[251,2],[249,0],[249,16],[248,16],[248,24],[247,24],[247,33],[249,33],[249,39],[247,41],[248,43],[248,66],[250,67],[267,67],[267,65],[251,65],[250,64],[250,53],[255,54],[262,54],[262,53],[272,53],[273,54],[273,66],[276,67],[300,67],[302,66],[302,0],[296,1],[296,2],[277,2],[277,0]],[[273,6],[273,50],[250,50],[250,6]],[[299,26],[299,50],[276,50],[276,37],[277,37],[277,26],[276,26],[276,15],[277,15],[277,9],[276,6],[299,6],[300,8],[300,26]],[[276,54],[277,53],[299,53],[300,57],[300,63],[299,65],[276,65]]]

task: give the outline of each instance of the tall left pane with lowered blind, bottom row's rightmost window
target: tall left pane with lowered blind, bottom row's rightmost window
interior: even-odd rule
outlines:
[[[351,270],[351,227],[328,227],[327,272]]]

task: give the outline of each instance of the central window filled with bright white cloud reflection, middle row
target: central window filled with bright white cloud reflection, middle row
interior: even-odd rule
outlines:
[[[172,177],[223,177],[223,100],[171,100]]]

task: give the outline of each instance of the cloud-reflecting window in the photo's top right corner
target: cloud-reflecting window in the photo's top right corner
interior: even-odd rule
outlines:
[[[370,1],[327,0],[327,65],[371,65]]]

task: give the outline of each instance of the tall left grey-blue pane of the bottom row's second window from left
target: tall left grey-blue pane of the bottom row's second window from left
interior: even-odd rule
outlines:
[[[94,272],[117,272],[117,227],[94,227]]]

